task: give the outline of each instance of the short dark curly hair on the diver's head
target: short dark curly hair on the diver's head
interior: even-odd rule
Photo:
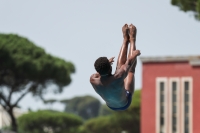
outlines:
[[[95,61],[94,67],[99,74],[107,74],[110,70],[110,62],[107,57],[99,57]]]

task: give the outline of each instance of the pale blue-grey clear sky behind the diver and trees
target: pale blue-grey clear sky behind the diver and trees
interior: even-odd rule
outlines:
[[[46,99],[92,95],[104,103],[89,77],[95,73],[94,61],[100,56],[114,56],[116,67],[125,23],[137,27],[136,47],[141,57],[200,55],[200,21],[191,12],[172,6],[170,0],[0,0],[0,33],[26,37],[76,67],[64,92],[47,94]],[[136,89],[142,88],[141,79],[138,61]],[[23,110],[64,108],[60,103],[44,105],[30,94],[19,105]]]

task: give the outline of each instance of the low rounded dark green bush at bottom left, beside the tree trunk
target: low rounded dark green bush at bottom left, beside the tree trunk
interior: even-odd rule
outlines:
[[[52,111],[29,112],[18,118],[20,133],[75,133],[81,124],[76,115]]]

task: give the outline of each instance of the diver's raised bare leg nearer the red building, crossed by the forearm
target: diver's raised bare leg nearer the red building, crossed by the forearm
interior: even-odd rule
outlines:
[[[129,55],[128,57],[133,55],[133,51],[136,50],[136,27],[131,24],[129,25],[129,37],[130,37],[130,48],[129,48]],[[125,89],[128,90],[133,94],[135,90],[135,67],[137,64],[137,59],[135,60],[134,64],[131,66],[127,77],[125,78]]]

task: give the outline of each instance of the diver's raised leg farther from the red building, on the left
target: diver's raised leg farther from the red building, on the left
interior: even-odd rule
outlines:
[[[128,50],[128,43],[129,43],[129,35],[128,35],[128,25],[125,24],[122,27],[122,33],[123,33],[123,44],[121,47],[121,50],[118,55],[117,59],[117,69],[119,69],[123,64],[125,64],[127,59],[127,50]]]

